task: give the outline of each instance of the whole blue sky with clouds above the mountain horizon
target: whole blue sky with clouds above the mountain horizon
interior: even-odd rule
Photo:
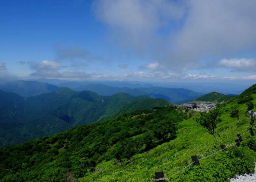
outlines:
[[[0,78],[256,82],[254,0],[0,0]]]

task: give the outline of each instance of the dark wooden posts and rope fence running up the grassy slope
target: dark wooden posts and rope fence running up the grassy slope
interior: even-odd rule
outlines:
[[[251,126],[253,126],[253,125],[251,125]],[[255,128],[255,129],[256,129],[256,128]],[[161,182],[163,182],[163,181],[165,181],[165,180],[169,180],[169,179],[172,178],[174,175],[176,175],[176,174],[178,174],[179,172],[183,171],[184,169],[186,169],[187,167],[189,167],[189,166],[192,165],[192,164],[194,164],[194,165],[200,165],[200,164],[199,164],[199,161],[200,161],[200,160],[203,160],[203,159],[205,159],[205,158],[208,158],[208,157],[210,157],[210,156],[213,156],[214,154],[216,154],[216,153],[218,153],[218,152],[220,152],[220,151],[223,151],[223,150],[225,150],[226,148],[232,147],[232,146],[234,146],[234,145],[237,145],[237,147],[239,147],[239,146],[240,146],[240,142],[242,141],[241,136],[245,135],[245,134],[248,133],[248,132],[251,132],[251,135],[254,136],[253,130],[255,130],[255,129],[252,129],[251,127],[249,127],[249,131],[246,131],[245,133],[243,133],[243,134],[241,134],[241,135],[240,135],[240,134],[237,134],[238,139],[235,139],[235,143],[234,143],[234,144],[229,145],[229,146],[221,145],[221,150],[218,150],[218,151],[216,151],[216,152],[214,152],[214,153],[212,153],[212,154],[210,154],[210,155],[208,155],[208,156],[205,156],[205,157],[203,157],[203,158],[201,158],[201,159],[197,159],[197,156],[192,156],[192,157],[191,157],[191,159],[192,159],[192,161],[193,161],[192,163],[188,164],[186,167],[184,167],[183,169],[177,171],[175,174],[169,176],[168,178],[165,178],[165,177],[163,176],[163,171],[155,172],[155,176],[156,176],[155,181],[161,181]]]

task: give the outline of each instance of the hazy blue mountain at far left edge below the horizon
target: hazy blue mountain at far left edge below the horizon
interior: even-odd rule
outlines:
[[[58,87],[38,81],[17,80],[0,85],[0,89],[6,92],[16,93],[22,97],[30,97],[43,93],[55,92]]]

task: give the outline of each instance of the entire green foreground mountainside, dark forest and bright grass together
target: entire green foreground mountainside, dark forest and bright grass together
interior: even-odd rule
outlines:
[[[249,106],[255,109],[255,87],[208,113],[174,106],[135,111],[2,147],[0,181],[153,182],[156,171],[175,182],[229,181],[249,174],[256,136],[248,130],[247,112]],[[242,137],[240,147],[236,134]],[[194,155],[200,165],[193,165]]]

